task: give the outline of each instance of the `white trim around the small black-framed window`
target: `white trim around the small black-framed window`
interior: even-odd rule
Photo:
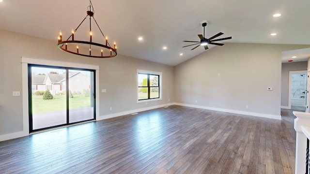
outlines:
[[[156,99],[146,99],[146,100],[139,100],[139,73],[146,73],[146,74],[154,74],[159,75],[159,98]],[[154,72],[154,71],[147,71],[147,70],[137,70],[137,103],[143,102],[153,102],[153,101],[160,101],[162,100],[162,73],[161,72]]]

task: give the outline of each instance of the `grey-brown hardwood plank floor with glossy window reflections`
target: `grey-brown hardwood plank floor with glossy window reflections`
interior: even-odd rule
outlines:
[[[0,173],[293,174],[282,120],[170,106],[0,142]]]

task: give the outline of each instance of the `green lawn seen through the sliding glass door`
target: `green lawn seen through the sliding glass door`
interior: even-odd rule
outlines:
[[[32,95],[32,113],[44,113],[52,111],[66,110],[65,95],[53,95],[54,99],[43,100],[43,96]],[[69,109],[83,108],[91,106],[91,98],[85,94],[74,94],[69,99]]]

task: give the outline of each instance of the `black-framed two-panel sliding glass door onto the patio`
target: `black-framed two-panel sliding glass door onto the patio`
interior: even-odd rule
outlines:
[[[94,71],[29,65],[30,132],[95,119]]]

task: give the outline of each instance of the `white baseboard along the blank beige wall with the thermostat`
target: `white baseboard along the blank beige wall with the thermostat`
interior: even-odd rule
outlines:
[[[179,105],[179,106],[187,106],[187,107],[207,109],[207,110],[220,111],[220,112],[227,112],[227,113],[233,113],[233,114],[241,114],[241,115],[247,115],[247,116],[260,116],[260,117],[264,117],[264,118],[281,119],[280,115],[277,116],[277,115],[269,115],[269,114],[261,114],[261,113],[252,113],[252,112],[237,111],[237,110],[231,110],[231,109],[221,109],[221,108],[198,106],[198,105],[192,105],[192,104],[183,104],[183,103],[174,103],[174,104]]]

